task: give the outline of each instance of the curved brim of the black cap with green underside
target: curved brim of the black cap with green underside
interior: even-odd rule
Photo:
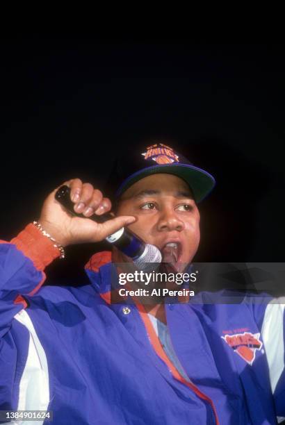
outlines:
[[[129,178],[127,178],[127,180],[125,180],[117,190],[115,196],[120,197],[125,190],[130,188],[131,185],[139,181],[141,178],[158,173],[174,174],[174,176],[178,176],[186,181],[193,191],[196,202],[201,202],[205,199],[215,186],[215,178],[213,178],[213,176],[204,169],[187,164],[162,164],[140,169],[138,172],[129,176]]]

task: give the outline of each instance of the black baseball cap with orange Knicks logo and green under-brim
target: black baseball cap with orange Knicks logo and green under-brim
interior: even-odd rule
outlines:
[[[108,187],[117,199],[141,178],[158,173],[174,174],[186,181],[196,202],[202,201],[215,186],[215,178],[209,172],[195,167],[168,144],[154,142],[141,149],[128,149],[117,158]]]

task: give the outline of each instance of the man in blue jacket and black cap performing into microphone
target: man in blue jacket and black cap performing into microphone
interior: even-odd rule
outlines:
[[[280,422],[283,305],[246,297],[112,303],[112,262],[129,261],[116,249],[92,256],[90,285],[40,288],[44,267],[65,246],[104,240],[122,226],[156,245],[177,272],[188,269],[199,245],[197,203],[213,177],[165,144],[127,159],[113,175],[117,217],[88,219],[110,211],[111,200],[74,178],[65,184],[86,218],[67,213],[55,190],[39,221],[1,245],[1,410],[49,409],[53,424]]]

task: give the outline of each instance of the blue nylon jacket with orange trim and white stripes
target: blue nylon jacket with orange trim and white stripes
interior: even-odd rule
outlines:
[[[0,244],[0,254],[0,410],[48,408],[55,425],[271,425],[285,417],[284,304],[166,305],[189,383],[143,306],[126,314],[110,303],[110,253],[92,257],[90,285],[80,288],[39,288],[42,267],[19,244]]]

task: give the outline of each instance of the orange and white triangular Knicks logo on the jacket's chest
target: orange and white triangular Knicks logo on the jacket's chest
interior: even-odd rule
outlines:
[[[259,340],[260,333],[236,333],[235,335],[225,335],[221,338],[227,342],[238,356],[241,356],[249,365],[255,359],[255,352],[261,350],[262,342]]]

